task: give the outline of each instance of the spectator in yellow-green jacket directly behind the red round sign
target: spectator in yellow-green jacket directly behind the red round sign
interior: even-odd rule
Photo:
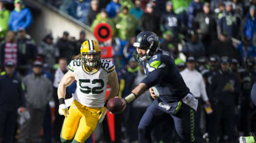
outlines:
[[[96,25],[98,25],[99,23],[109,24],[110,27],[112,28],[112,36],[116,35],[115,34],[116,33],[115,24],[114,24],[112,19],[107,18],[107,12],[104,9],[101,10],[101,13],[96,15],[96,19],[91,24],[91,31],[92,32],[94,31],[94,28],[96,27]]]

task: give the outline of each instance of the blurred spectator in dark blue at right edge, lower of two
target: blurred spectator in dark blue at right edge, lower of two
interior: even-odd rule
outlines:
[[[243,41],[238,45],[237,49],[241,63],[243,63],[248,57],[256,56],[256,49],[248,36],[244,37]]]

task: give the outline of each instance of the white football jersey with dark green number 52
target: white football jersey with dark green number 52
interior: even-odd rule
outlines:
[[[90,72],[82,66],[82,60],[77,59],[69,63],[68,69],[74,72],[76,79],[74,100],[87,107],[103,107],[108,74],[115,70],[113,62],[102,59],[99,69]]]

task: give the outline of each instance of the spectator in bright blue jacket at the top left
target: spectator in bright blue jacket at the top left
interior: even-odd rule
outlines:
[[[29,8],[26,8],[21,0],[14,1],[14,10],[10,13],[9,28],[11,31],[26,29],[32,23],[32,15]]]

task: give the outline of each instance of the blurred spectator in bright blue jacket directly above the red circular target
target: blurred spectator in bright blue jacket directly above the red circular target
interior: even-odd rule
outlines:
[[[108,18],[115,18],[117,13],[121,10],[121,4],[119,4],[119,0],[113,0],[109,4],[107,4],[106,12]]]

